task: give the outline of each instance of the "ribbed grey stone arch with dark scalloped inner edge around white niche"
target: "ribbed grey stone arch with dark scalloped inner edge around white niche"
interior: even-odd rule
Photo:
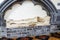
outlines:
[[[11,9],[12,5],[14,5],[15,3],[20,3],[22,4],[24,0],[9,0],[9,1],[5,1],[0,9],[0,16],[1,16],[1,26],[6,27],[6,20],[4,19],[5,16],[5,12],[8,9]],[[46,10],[49,14],[49,16],[51,17],[50,19],[50,24],[55,24],[56,22],[56,13],[57,10],[54,7],[54,5],[50,2],[50,1],[46,1],[46,0],[32,0],[32,2],[34,3],[34,5],[40,5],[42,4],[42,7],[44,7],[43,9]]]

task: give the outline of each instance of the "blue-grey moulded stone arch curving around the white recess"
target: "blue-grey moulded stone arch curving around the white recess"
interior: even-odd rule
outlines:
[[[15,2],[18,2],[19,0],[6,0],[4,3],[2,3],[2,5],[0,6],[0,26],[6,26],[5,21],[4,21],[4,12],[7,8],[9,8],[10,5],[12,5]],[[24,0],[23,0],[24,1]],[[49,11],[49,13],[51,14],[51,24],[55,24],[56,22],[56,13],[57,10],[54,7],[54,5],[48,1],[48,0],[32,0],[32,1],[36,1],[38,3],[42,3],[44,5],[44,7],[46,7],[46,9]]]

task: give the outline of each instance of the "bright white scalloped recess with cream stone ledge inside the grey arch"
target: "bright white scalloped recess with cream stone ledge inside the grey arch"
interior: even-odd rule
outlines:
[[[28,27],[50,25],[50,16],[41,5],[34,5],[32,1],[14,4],[12,9],[5,12],[6,27]]]

